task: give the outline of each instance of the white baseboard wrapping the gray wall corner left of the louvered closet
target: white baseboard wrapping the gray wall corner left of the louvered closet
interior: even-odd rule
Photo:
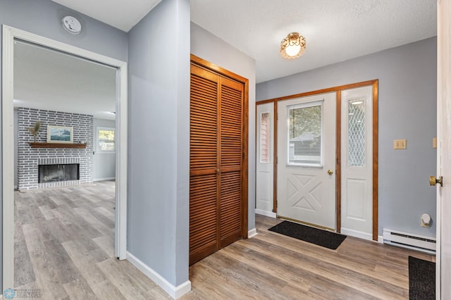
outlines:
[[[133,254],[127,251],[127,260],[135,265],[138,270],[144,273],[147,277],[149,277],[153,282],[155,282],[159,287],[161,287],[169,296],[173,297],[173,299],[178,299],[187,292],[191,291],[191,282],[187,280],[183,282],[183,284],[178,285],[178,287],[174,287],[171,285],[168,280],[164,279],[159,273],[156,273],[152,268],[149,268],[148,265],[140,261],[139,258],[135,257]]]

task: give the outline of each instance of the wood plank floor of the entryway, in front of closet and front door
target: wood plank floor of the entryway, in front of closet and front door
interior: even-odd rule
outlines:
[[[435,261],[353,237],[330,250],[268,231],[278,223],[256,215],[256,237],[192,265],[183,299],[409,299],[408,256]]]

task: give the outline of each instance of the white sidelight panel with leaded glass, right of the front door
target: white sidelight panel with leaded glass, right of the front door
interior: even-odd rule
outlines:
[[[341,233],[373,239],[373,87],[341,93]]]

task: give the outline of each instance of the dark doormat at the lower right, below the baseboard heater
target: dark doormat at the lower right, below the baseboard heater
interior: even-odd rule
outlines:
[[[409,299],[435,299],[435,263],[409,256]]]

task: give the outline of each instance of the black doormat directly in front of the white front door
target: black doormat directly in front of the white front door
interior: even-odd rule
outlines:
[[[338,235],[338,233],[335,232],[321,230],[289,221],[278,223],[278,225],[273,226],[268,230],[333,250],[337,249],[338,246],[340,246],[340,244],[346,239],[345,235]]]

